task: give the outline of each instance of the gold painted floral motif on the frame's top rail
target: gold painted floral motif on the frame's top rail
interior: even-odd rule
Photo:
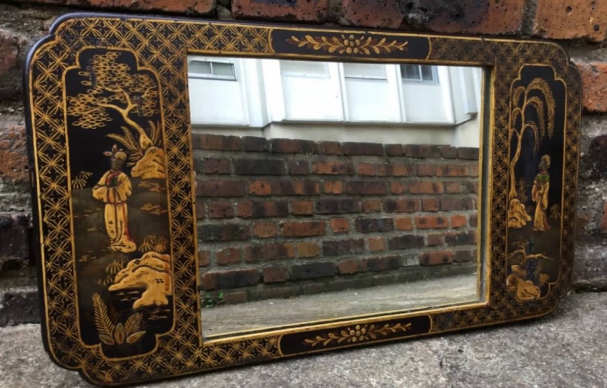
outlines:
[[[297,44],[297,47],[308,47],[314,50],[323,50],[330,53],[347,53],[347,54],[365,54],[371,55],[371,51],[376,54],[391,53],[396,51],[407,51],[409,42],[398,42],[393,40],[388,42],[386,38],[376,39],[373,36],[365,35],[342,35],[337,36],[311,36],[306,35],[305,40],[300,40],[296,36],[291,36],[287,39],[288,42]]]

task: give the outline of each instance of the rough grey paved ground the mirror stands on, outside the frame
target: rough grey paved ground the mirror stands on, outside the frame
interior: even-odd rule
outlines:
[[[307,356],[154,388],[602,388],[607,386],[607,293],[567,296],[531,323]],[[0,328],[0,387],[89,387],[50,363],[38,325]]]

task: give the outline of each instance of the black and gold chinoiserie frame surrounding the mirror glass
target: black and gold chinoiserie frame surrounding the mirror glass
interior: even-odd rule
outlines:
[[[407,61],[489,69],[484,104],[487,144],[483,151],[487,171],[480,223],[484,225],[480,229],[480,241],[484,243],[479,251],[486,256],[486,300],[204,340],[187,92],[189,53]],[[93,57],[97,62],[92,62]],[[97,70],[84,64],[95,65]],[[110,68],[114,70],[107,70]],[[110,73],[103,75],[104,71]],[[140,96],[145,95],[151,102],[121,96],[120,90],[104,84],[103,76],[123,79],[125,87],[140,88]],[[151,381],[533,318],[555,309],[571,282],[580,76],[563,49],[551,42],[76,14],[59,19],[50,36],[32,49],[25,86],[43,341],[56,364],[78,370],[92,383],[112,386]],[[152,183],[157,183],[166,191],[164,197],[154,197],[158,203],[148,206],[148,210],[165,207],[166,218],[157,224],[160,229],[156,232],[160,234],[148,241],[152,253],[137,261],[141,264],[146,260],[148,270],[157,270],[154,279],[164,288],[152,290],[145,297],[138,295],[136,298],[140,299],[135,301],[141,305],[144,298],[164,298],[166,308],[161,312],[142,315],[135,304],[127,312],[112,312],[100,293],[84,295],[79,288],[87,274],[79,272],[78,260],[86,260],[92,250],[76,257],[78,229],[87,225],[82,221],[87,215],[82,205],[86,201],[78,197],[78,190],[91,172],[72,170],[78,162],[86,164],[89,160],[86,147],[95,149],[102,140],[78,134],[83,133],[83,128],[103,127],[116,117],[126,122],[128,112],[124,115],[116,106],[114,113],[99,109],[112,101],[121,102],[118,105],[123,110],[138,109],[148,123],[135,122],[130,129],[123,128],[124,133],[114,133],[113,139],[136,150],[138,157],[128,159],[116,147],[105,150],[104,156],[110,160],[107,166],[111,164],[112,169],[93,191],[98,190],[96,198],[105,203],[105,220],[112,225],[120,224],[122,219],[118,214],[124,210],[121,196],[131,193],[131,186],[120,186],[129,177],[115,173],[125,162],[137,169],[138,177],[143,179],[138,181],[141,187],[155,187]],[[537,112],[535,119],[524,118],[529,109]],[[531,216],[521,206],[513,185],[521,169],[527,169],[518,162],[519,138],[526,130],[534,133],[537,160],[544,167],[553,161],[551,175],[560,175],[560,179],[553,178],[552,183],[560,190],[561,199],[560,207],[551,212],[558,219],[551,221],[553,225],[560,222],[552,233],[560,238],[560,249],[551,254],[555,256],[555,267],[551,274],[538,274],[535,270],[531,280],[534,275],[524,269],[523,263],[533,252],[527,252],[515,237],[520,234],[521,225],[534,221],[529,221]],[[85,150],[79,151],[82,149]],[[548,158],[539,155],[542,150],[549,150]],[[118,169],[114,169],[116,166]],[[537,172],[537,164],[528,168]],[[542,183],[540,175],[536,179]],[[151,180],[145,181],[146,177]],[[110,196],[117,199],[110,200]],[[134,230],[117,226],[108,233],[113,241],[111,250],[132,252],[129,233]],[[158,237],[162,233],[165,238]],[[554,239],[551,244],[555,245]],[[149,271],[130,270],[123,275],[109,275],[122,276],[124,281],[136,270],[141,271],[137,272],[140,276],[149,275]],[[81,309],[88,315],[80,315]],[[152,316],[165,319],[165,323],[149,323],[149,333],[140,330],[141,320]],[[89,329],[88,324],[94,324],[96,329]],[[118,346],[121,344],[122,348]]]

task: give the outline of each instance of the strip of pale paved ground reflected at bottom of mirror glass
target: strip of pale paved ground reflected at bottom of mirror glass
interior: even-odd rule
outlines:
[[[205,338],[319,319],[478,301],[476,274],[270,299],[202,310]],[[239,317],[234,319],[234,317]]]

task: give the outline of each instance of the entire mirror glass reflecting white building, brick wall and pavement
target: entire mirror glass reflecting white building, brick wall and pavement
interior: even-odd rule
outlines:
[[[189,56],[188,76],[206,338],[483,299],[482,69]]]

